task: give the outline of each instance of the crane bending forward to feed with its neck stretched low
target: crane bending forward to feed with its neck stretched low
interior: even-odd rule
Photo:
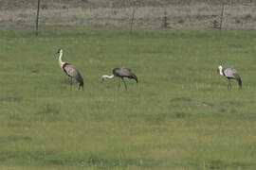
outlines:
[[[120,87],[120,79],[121,79],[126,90],[127,90],[127,85],[123,79],[124,77],[128,77],[130,79],[135,79],[136,82],[138,82],[137,76],[129,68],[115,68],[115,69],[113,69],[112,73],[113,73],[113,75],[111,75],[111,76],[108,76],[108,75],[101,76],[101,82],[103,82],[105,78],[113,78],[113,77],[117,76],[117,77],[119,77],[119,87]]]

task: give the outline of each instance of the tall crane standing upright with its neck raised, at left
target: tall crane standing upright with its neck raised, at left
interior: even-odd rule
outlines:
[[[59,65],[60,65],[61,69],[64,71],[64,73],[67,76],[71,77],[71,85],[72,85],[72,78],[74,77],[79,82],[79,89],[80,88],[83,89],[83,79],[82,79],[82,76],[81,76],[79,70],[75,67],[75,65],[63,61],[63,54],[64,54],[63,49],[59,49],[57,51],[57,53],[60,54]]]

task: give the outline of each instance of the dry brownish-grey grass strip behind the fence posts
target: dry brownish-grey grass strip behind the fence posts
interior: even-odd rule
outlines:
[[[44,4],[45,3],[45,4]],[[140,6],[135,14],[135,26],[157,28],[162,26],[167,11],[172,28],[214,27],[220,21],[221,6],[210,3],[190,5]],[[109,5],[109,7],[115,7]],[[56,7],[56,8],[53,8]],[[92,6],[94,7],[94,6]],[[47,3],[43,1],[40,15],[41,26],[129,26],[133,8],[75,7],[71,3]],[[0,26],[33,26],[36,7],[2,9]],[[223,27],[227,29],[255,28],[256,6],[254,4],[229,4],[225,8]]]

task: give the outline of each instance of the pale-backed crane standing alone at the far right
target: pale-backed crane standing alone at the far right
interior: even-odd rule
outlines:
[[[239,85],[239,88],[242,88],[242,80],[238,72],[234,68],[223,68],[222,65],[219,65],[217,70],[221,76],[225,76],[229,79],[228,90],[231,89],[230,79],[236,79]]]

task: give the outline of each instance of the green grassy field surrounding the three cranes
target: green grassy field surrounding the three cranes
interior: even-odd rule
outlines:
[[[70,88],[64,60],[82,73]],[[255,169],[255,31],[0,28],[0,169]],[[216,73],[220,60],[243,80]],[[138,77],[101,83],[115,67]]]

